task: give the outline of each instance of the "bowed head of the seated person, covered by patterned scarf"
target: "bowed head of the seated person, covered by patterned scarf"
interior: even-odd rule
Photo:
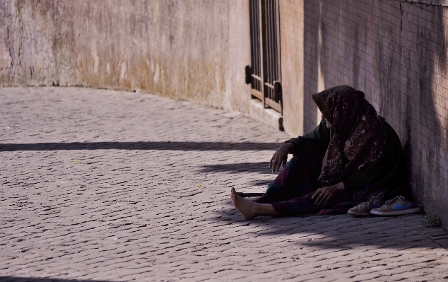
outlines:
[[[312,95],[322,115],[337,131],[349,130],[366,104],[370,105],[364,97],[362,91],[351,86],[335,86]]]

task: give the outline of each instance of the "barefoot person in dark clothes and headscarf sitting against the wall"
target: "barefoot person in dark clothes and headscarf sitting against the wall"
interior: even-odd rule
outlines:
[[[336,86],[312,99],[322,121],[273,154],[272,171],[282,164],[284,169],[263,196],[247,201],[232,189],[232,203],[244,219],[346,213],[372,196],[405,192],[388,188],[403,183],[400,139],[364,93]],[[294,156],[285,166],[288,153]]]

